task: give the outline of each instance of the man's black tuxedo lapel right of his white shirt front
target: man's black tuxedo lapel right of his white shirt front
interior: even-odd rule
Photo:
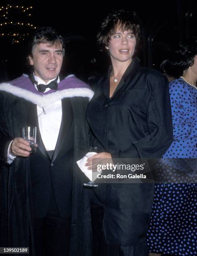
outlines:
[[[73,122],[73,110],[70,98],[64,98],[61,100],[61,107],[62,107],[62,117],[61,117],[61,126],[59,129],[59,135],[57,138],[57,143],[54,151],[54,155],[51,159],[51,162],[54,162],[56,157],[58,156],[61,147],[64,144],[64,141],[66,140],[70,127]]]

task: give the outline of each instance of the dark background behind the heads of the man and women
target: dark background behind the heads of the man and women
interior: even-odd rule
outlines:
[[[17,3],[16,3],[17,2]],[[61,73],[74,73],[84,81],[95,71],[105,72],[109,64],[106,53],[96,46],[95,36],[101,21],[111,10],[134,10],[141,18],[144,30],[143,47],[138,53],[141,64],[159,70],[161,61],[168,58],[170,50],[180,40],[197,36],[197,0],[166,1],[1,1],[0,5],[32,6],[31,17],[12,9],[4,17],[0,11],[0,23],[17,21],[33,24],[33,27],[52,26],[64,36],[66,55]],[[15,8],[16,9],[16,8]],[[14,10],[14,11],[13,11]],[[28,72],[26,62],[27,26],[0,26],[0,81],[14,79]],[[18,43],[6,33],[23,34]],[[4,34],[2,36],[2,34]],[[16,38],[16,37],[15,37]],[[23,40],[24,39],[24,40]]]

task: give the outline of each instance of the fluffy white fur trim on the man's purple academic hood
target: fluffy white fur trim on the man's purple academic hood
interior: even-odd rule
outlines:
[[[88,97],[89,100],[92,99],[94,92],[88,88],[71,88],[65,89],[61,91],[56,91],[48,95],[36,95],[33,92],[22,89],[20,87],[13,86],[12,84],[2,83],[0,84],[0,91],[9,92],[15,96],[20,98],[24,98],[25,100],[31,101],[39,107],[46,107],[57,100],[62,100],[64,98],[70,97]]]

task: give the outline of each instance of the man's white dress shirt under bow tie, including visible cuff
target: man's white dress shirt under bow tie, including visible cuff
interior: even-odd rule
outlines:
[[[52,80],[49,80],[46,83],[41,78],[35,76],[35,74],[33,75],[34,75],[34,79],[36,80],[36,82],[38,82],[38,84],[49,84],[51,81],[56,79],[54,78]],[[57,82],[58,83],[60,82],[59,78]],[[36,90],[38,90],[36,84],[34,84],[34,86]],[[51,89],[46,88],[46,91],[43,93],[46,93],[49,90]],[[61,125],[61,116],[62,116],[61,100],[57,100],[56,102],[54,102],[51,105],[48,105],[44,109],[40,108],[37,105],[37,114],[38,114],[38,125],[39,125],[39,130],[41,133],[43,144],[47,151],[54,150],[56,146],[57,138],[59,135],[60,125]],[[9,153],[12,142],[13,141],[10,142],[10,145],[8,147],[8,164],[11,164],[16,157],[14,154]]]

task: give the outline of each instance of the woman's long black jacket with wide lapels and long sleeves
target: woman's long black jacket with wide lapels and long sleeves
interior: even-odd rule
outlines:
[[[113,97],[109,98],[110,72],[111,68],[98,82],[87,107],[94,146],[111,153],[114,164],[120,164],[125,158],[161,157],[173,140],[166,79],[153,69],[140,67],[139,60],[134,59]],[[121,170],[116,173],[123,174]],[[100,201],[105,202],[106,242],[118,244],[121,241],[123,246],[140,243],[146,240],[154,184],[121,184],[120,180],[117,183],[99,184],[93,190]],[[113,209],[116,209],[115,214]],[[128,218],[127,225],[123,225],[124,218]],[[123,236],[122,229],[128,235]]]

